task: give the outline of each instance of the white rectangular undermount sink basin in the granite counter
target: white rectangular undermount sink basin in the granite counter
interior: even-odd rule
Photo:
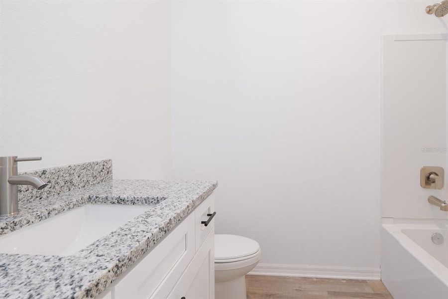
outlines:
[[[73,255],[150,207],[84,205],[0,236],[0,253]]]

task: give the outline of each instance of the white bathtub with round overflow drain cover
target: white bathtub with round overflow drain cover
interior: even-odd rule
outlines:
[[[448,299],[448,220],[384,218],[381,250],[381,280],[394,299]]]

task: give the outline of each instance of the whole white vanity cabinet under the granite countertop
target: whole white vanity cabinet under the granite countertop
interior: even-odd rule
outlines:
[[[98,298],[214,299],[213,194]]]

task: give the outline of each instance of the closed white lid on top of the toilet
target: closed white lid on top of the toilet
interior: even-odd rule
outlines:
[[[215,235],[215,260],[232,260],[255,254],[260,245],[252,239],[236,235]]]

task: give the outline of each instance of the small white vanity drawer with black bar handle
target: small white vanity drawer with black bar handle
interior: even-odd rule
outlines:
[[[215,212],[215,199],[213,194],[210,194],[195,210],[196,251],[199,250],[199,247],[201,247],[201,244],[212,231],[212,228],[215,227],[215,218],[207,226],[202,224],[203,221],[207,221],[211,217],[208,215],[213,214],[213,212]]]

